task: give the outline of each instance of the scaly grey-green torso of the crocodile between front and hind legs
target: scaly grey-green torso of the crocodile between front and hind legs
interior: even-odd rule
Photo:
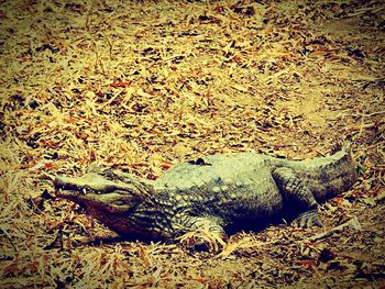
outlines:
[[[178,164],[161,175],[154,189],[175,200],[176,213],[216,215],[227,224],[268,218],[282,209],[268,158],[252,153],[212,155],[200,165]]]

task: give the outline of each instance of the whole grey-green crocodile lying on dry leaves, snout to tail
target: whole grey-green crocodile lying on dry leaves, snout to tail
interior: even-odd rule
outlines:
[[[319,203],[349,190],[356,179],[344,144],[331,155],[305,160],[219,154],[179,163],[156,180],[103,168],[80,177],[55,176],[54,185],[58,198],[85,207],[120,235],[166,241],[202,226],[226,237],[232,227],[286,215],[301,227],[322,225]]]

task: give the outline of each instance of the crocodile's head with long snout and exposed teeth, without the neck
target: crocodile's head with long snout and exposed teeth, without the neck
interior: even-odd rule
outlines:
[[[88,173],[76,178],[56,176],[54,185],[58,198],[85,207],[94,216],[97,212],[130,213],[148,192],[135,176],[122,177],[111,171]]]

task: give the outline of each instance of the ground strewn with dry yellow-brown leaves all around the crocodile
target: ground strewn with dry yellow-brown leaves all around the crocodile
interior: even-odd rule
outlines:
[[[0,287],[385,286],[383,1],[0,3]],[[116,235],[50,176],[154,179],[208,154],[315,157],[350,140],[324,227],[239,232],[211,252]]]

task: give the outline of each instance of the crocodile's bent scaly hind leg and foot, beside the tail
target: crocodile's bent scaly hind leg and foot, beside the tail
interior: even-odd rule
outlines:
[[[321,218],[317,211],[316,198],[295,171],[280,167],[275,169],[272,175],[285,201],[296,207],[298,212],[302,212],[293,221],[293,224],[300,227],[322,226]]]

